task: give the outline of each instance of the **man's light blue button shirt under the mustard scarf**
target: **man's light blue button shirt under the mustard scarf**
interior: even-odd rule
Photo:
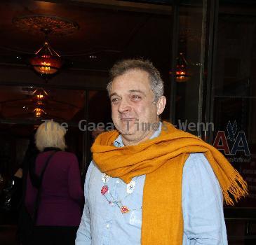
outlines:
[[[161,125],[151,139],[158,137],[160,132]],[[114,141],[114,146],[123,146],[121,135]],[[102,186],[105,186],[103,180],[106,180],[103,177],[102,172],[91,162],[86,174],[85,206],[76,235],[76,245],[140,244],[145,175],[133,178],[135,187],[130,195],[126,193],[126,183],[110,177],[107,180],[110,193],[106,193],[107,198],[101,193]],[[113,201],[111,195],[114,200],[121,200],[130,212],[122,214],[116,204],[109,204],[108,200]],[[183,245],[227,244],[222,190],[202,153],[190,154],[184,164],[182,212]]]

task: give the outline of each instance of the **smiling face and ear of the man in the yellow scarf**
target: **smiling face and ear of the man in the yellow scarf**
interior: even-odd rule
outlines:
[[[165,97],[159,100],[164,103],[154,102],[149,74],[140,69],[131,69],[114,78],[110,100],[112,120],[126,145],[149,139],[165,106]]]

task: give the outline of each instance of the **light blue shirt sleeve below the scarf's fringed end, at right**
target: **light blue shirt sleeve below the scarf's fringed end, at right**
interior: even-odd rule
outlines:
[[[189,155],[182,179],[183,244],[227,244],[220,184],[201,153]]]

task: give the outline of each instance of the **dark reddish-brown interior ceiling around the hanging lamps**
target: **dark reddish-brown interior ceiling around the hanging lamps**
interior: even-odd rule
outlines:
[[[35,101],[32,91],[38,87],[43,87],[49,94],[43,105],[46,111],[43,118],[68,121],[83,118],[83,90],[105,89],[109,67],[123,57],[149,58],[161,69],[169,67],[170,6],[109,0],[61,2],[0,3],[2,121],[6,118],[16,121],[34,118]],[[28,57],[43,45],[44,34],[33,29],[24,31],[14,24],[15,18],[31,15],[69,20],[79,27],[72,34],[48,36],[52,48],[69,65],[48,80],[47,84],[27,65]],[[92,94],[89,94],[89,103],[95,104],[99,95]],[[105,104],[106,99],[103,98],[102,104]]]

